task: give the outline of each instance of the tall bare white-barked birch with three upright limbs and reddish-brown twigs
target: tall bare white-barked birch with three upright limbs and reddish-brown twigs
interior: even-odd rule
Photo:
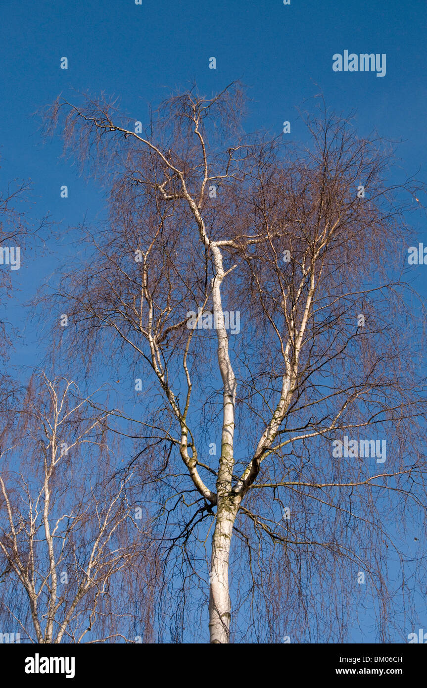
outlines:
[[[421,522],[425,509],[426,407],[410,337],[419,319],[411,322],[402,272],[418,185],[387,186],[392,151],[325,107],[307,115],[299,147],[245,135],[241,112],[239,85],[212,98],[174,96],[144,131],[106,100],[54,105],[51,122],[64,114],[67,147],[110,193],[107,228],[83,228],[85,261],[56,294],[73,323],[69,350],[92,370],[116,365],[129,389],[142,381],[140,450],[165,442],[174,463],[162,476],[175,476],[172,496],[190,510],[168,553],[197,528],[201,549],[212,539],[211,643],[232,638],[233,547],[245,579],[235,607],[248,627],[263,598],[258,639],[263,625],[274,639],[292,619],[307,637],[333,586],[352,594],[360,571],[384,637],[388,547],[402,567],[406,556],[384,513]],[[218,455],[208,453],[217,430]],[[344,436],[368,442],[360,447],[386,440],[386,459],[333,455]],[[170,499],[160,510],[168,518]],[[344,581],[347,563],[355,570]],[[303,570],[306,581],[318,578],[321,609]],[[344,593],[338,606],[344,619]]]

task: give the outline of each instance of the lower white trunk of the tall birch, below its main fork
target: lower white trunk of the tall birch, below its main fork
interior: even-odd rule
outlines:
[[[237,509],[221,505],[217,511],[217,523],[212,536],[212,565],[209,582],[209,632],[210,643],[230,642],[231,605],[228,592],[228,560],[232,528]]]

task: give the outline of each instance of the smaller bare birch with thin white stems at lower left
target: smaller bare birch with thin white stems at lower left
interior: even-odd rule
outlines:
[[[145,594],[139,585],[151,564],[139,557],[146,525],[135,530],[132,473],[111,471],[105,413],[91,402],[71,380],[34,376],[3,436],[0,619],[22,641],[135,642],[129,592],[138,588],[150,607],[149,586]],[[150,623],[139,630],[147,641]]]

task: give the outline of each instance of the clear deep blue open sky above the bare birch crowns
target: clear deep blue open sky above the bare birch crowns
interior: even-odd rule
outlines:
[[[135,120],[148,120],[156,105],[175,89],[195,80],[212,94],[240,78],[248,85],[246,129],[281,133],[291,122],[289,139],[306,136],[296,108],[319,91],[331,109],[355,110],[363,136],[402,141],[392,182],[416,174],[426,181],[426,23],[427,3],[388,0],[1,0],[0,186],[19,178],[32,181],[28,218],[50,213],[63,239],[51,242],[50,254],[33,261],[23,255],[12,276],[22,303],[74,249],[68,228],[102,218],[102,190],[78,175],[61,158],[59,137],[44,141],[35,114],[59,95],[89,90],[116,95]],[[332,56],[344,50],[386,54],[386,76],[337,73]],[[60,62],[67,57],[68,69]],[[217,69],[208,68],[211,56]],[[69,197],[60,189],[68,186]],[[427,246],[426,213],[413,213],[414,243]],[[396,256],[403,264],[404,256]],[[427,266],[414,267],[415,286],[427,295]],[[8,319],[25,334],[14,363],[36,365],[37,334],[26,325],[27,311]],[[24,330],[24,328],[26,328]],[[427,623],[427,621],[426,621]]]

